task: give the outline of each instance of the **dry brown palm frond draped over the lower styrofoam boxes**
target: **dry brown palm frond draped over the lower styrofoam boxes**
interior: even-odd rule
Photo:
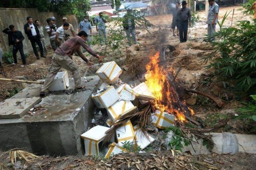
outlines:
[[[107,135],[104,139],[104,142],[108,142],[113,137],[115,130],[117,130],[117,128],[119,128],[123,124],[126,124],[128,120],[133,119],[138,121],[138,128],[140,128],[142,132],[146,135],[146,125],[150,123],[151,110],[152,103],[147,102],[141,105],[141,107],[139,107],[138,112],[122,115],[117,121],[114,122],[112,128],[106,131]]]

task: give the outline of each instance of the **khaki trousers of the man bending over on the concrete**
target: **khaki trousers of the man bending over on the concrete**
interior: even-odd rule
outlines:
[[[48,90],[48,88],[51,86],[53,79],[55,78],[55,75],[59,72],[61,67],[72,72],[75,81],[75,88],[82,87],[81,77],[79,74],[79,67],[76,65],[75,61],[73,61],[68,56],[60,56],[57,54],[53,54],[52,64],[49,67],[49,74],[46,76],[46,79],[44,80],[42,91]]]

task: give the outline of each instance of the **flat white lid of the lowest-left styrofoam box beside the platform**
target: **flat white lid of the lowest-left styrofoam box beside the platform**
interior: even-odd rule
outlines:
[[[86,131],[85,133],[81,134],[81,137],[89,138],[92,139],[93,141],[98,141],[106,136],[105,132],[109,129],[110,128],[108,127],[97,125],[92,129]]]

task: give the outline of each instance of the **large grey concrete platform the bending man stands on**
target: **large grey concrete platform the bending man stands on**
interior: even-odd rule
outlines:
[[[84,133],[93,118],[96,107],[90,98],[97,90],[100,79],[88,76],[82,82],[88,90],[75,94],[49,95],[43,108],[35,111],[32,116],[0,120],[0,150],[26,148],[39,155],[77,155],[84,154],[84,143],[80,135]],[[73,88],[73,80],[70,87]],[[13,99],[38,97],[40,84],[31,84],[20,91]],[[40,105],[40,104],[39,104]],[[76,111],[79,108],[80,111]]]

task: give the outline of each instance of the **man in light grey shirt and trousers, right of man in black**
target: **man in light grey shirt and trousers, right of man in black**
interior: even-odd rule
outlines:
[[[208,24],[208,36],[212,36],[215,33],[216,24],[218,22],[218,10],[219,7],[214,0],[209,0],[209,12],[207,17]]]

